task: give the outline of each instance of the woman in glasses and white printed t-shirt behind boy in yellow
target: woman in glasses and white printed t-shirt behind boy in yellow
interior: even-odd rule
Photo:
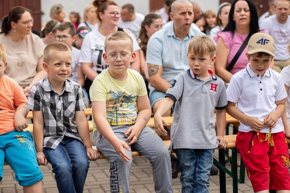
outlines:
[[[85,88],[88,93],[93,80],[99,75],[99,73],[109,67],[108,63],[104,61],[102,54],[105,52],[105,39],[113,32],[124,31],[133,39],[133,51],[136,52],[136,57],[135,61],[131,63],[130,68],[136,71],[139,71],[140,69],[140,47],[135,36],[130,30],[117,27],[120,17],[117,3],[108,0],[95,0],[93,4],[97,7],[97,17],[100,21],[100,27],[98,30],[93,30],[86,35],[81,47],[81,56],[79,58],[79,63],[81,63],[82,70],[87,77]]]

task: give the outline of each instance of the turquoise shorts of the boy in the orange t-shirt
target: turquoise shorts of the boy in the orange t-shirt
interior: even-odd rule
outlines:
[[[10,131],[0,135],[0,181],[4,160],[15,173],[21,186],[30,186],[42,180],[43,174],[36,161],[36,150],[29,131]]]

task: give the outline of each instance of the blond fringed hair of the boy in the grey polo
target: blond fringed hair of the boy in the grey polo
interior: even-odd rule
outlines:
[[[200,56],[211,54],[215,55],[216,47],[209,36],[195,36],[189,43],[187,53],[194,52]]]

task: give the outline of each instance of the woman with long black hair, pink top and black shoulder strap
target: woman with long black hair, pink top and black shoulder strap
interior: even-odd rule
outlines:
[[[249,63],[244,54],[247,52],[246,46],[233,67],[227,69],[247,36],[257,32],[268,34],[268,30],[259,29],[258,14],[254,3],[251,0],[233,1],[229,12],[228,25],[223,31],[218,32],[215,37],[217,42],[215,69],[217,75],[226,83],[230,82],[233,74],[244,69]],[[273,68],[273,64],[271,68]]]

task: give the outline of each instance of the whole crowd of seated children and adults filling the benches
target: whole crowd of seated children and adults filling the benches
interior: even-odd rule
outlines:
[[[41,33],[30,10],[12,8],[0,34],[0,181],[5,160],[23,192],[43,192],[38,166],[50,163],[59,192],[83,192],[88,160],[102,152],[111,192],[129,192],[137,150],[152,164],[155,192],[173,192],[179,172],[182,192],[209,192],[227,112],[240,121],[236,145],[254,191],[289,193],[290,1],[268,4],[258,18],[251,0],[204,12],[166,0],[144,16],[95,0],[66,20],[57,3]],[[33,138],[23,131],[29,110]],[[173,115],[170,126],[162,117]]]

